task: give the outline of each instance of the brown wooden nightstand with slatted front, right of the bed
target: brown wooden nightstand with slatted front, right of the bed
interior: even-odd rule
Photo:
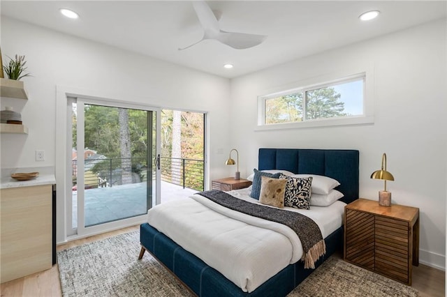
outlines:
[[[344,259],[411,285],[419,265],[419,208],[358,199],[345,206]]]

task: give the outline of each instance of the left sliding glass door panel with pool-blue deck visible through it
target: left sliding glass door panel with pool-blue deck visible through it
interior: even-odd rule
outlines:
[[[76,98],[72,114],[72,233],[136,222],[160,199],[159,111]]]

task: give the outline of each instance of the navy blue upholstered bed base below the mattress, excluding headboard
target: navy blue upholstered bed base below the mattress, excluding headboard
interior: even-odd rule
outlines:
[[[286,296],[314,271],[314,269],[305,269],[304,263],[298,261],[279,271],[255,291],[247,293],[148,223],[140,225],[140,243],[145,250],[200,297]],[[325,244],[326,254],[316,261],[316,268],[335,251],[342,250],[343,227],[326,237]]]

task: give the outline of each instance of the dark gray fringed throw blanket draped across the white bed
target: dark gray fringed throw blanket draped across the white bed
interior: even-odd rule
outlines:
[[[326,252],[326,245],[320,228],[318,228],[314,220],[307,218],[305,215],[284,209],[253,204],[220,190],[210,190],[197,194],[221,206],[230,208],[233,211],[239,211],[272,222],[279,222],[290,227],[300,238],[302,249],[304,250],[301,259],[305,261],[305,268],[314,269],[316,260]]]

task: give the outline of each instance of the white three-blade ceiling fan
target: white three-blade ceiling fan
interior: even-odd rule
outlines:
[[[234,49],[242,50],[259,45],[267,38],[265,35],[223,31],[219,26],[220,14],[217,13],[216,17],[205,1],[193,1],[193,7],[204,30],[203,38],[179,50],[186,50],[207,39],[214,39]]]

